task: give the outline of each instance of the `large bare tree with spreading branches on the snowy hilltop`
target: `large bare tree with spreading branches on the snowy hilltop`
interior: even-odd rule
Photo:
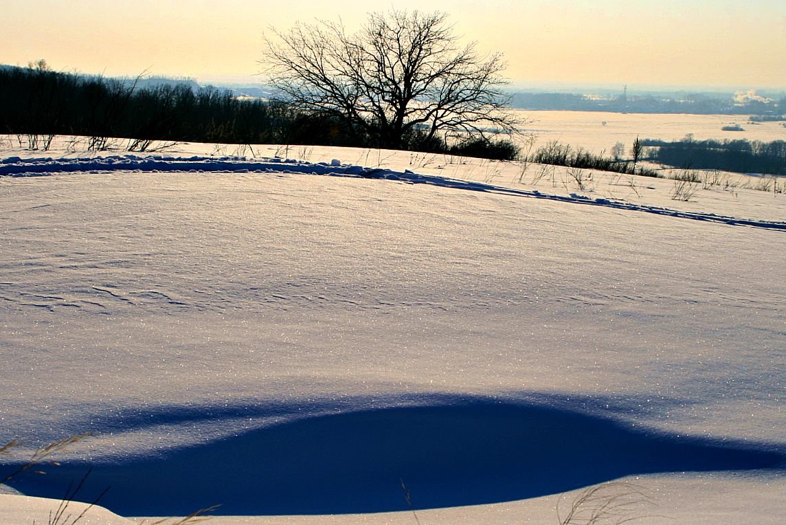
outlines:
[[[348,34],[320,21],[275,31],[261,64],[283,101],[340,119],[352,133],[400,148],[453,132],[515,132],[500,54],[482,57],[474,42],[459,46],[445,13],[371,13]]]

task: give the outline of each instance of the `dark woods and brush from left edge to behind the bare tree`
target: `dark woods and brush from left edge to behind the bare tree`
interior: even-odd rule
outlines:
[[[53,72],[39,61],[28,68],[0,66],[0,134],[83,135],[90,149],[108,138],[226,144],[302,144],[376,147],[330,115],[307,113],[281,102],[236,97],[230,90],[193,82]],[[466,156],[515,159],[510,141],[468,138],[454,145],[413,132],[405,148]]]

